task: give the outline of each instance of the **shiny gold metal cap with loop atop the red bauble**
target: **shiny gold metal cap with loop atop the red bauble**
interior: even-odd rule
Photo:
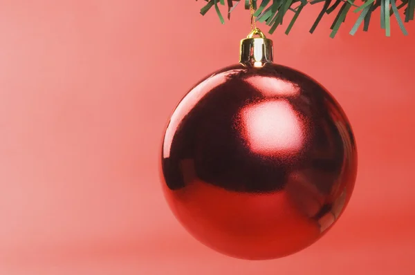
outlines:
[[[254,37],[258,35],[259,37]],[[265,37],[264,32],[255,28],[246,39],[241,40],[239,63],[244,66],[261,68],[267,63],[273,63],[273,40]]]

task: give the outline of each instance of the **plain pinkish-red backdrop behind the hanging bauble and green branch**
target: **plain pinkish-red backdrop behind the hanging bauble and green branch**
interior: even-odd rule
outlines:
[[[221,26],[203,1],[0,1],[0,274],[414,274],[415,24],[335,39],[321,5],[274,40],[275,61],[318,79],[356,133],[355,193],[315,245],[266,262],[188,235],[160,189],[169,115],[237,63],[242,5]],[[223,9],[225,11],[225,9]],[[284,23],[284,27],[288,21]],[[268,27],[261,26],[263,30]]]

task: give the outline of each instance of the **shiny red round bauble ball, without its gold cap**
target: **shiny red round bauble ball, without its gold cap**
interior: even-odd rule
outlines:
[[[342,214],[356,180],[346,115],[310,77],[235,65],[178,104],[161,158],[181,224],[218,252],[252,260],[298,252]]]

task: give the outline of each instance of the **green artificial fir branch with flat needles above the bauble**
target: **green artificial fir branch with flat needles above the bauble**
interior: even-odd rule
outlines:
[[[206,5],[201,9],[201,14],[205,15],[210,8],[214,7],[221,23],[225,23],[225,20],[222,17],[219,5],[224,6],[226,2],[228,6],[228,19],[230,19],[231,12],[238,6],[239,3],[241,3],[241,1],[245,2],[245,8],[247,10],[250,9],[251,5],[250,0],[204,1],[208,3],[206,3]],[[340,6],[338,14],[331,25],[331,38],[335,37],[340,25],[344,22],[349,12],[360,13],[360,16],[349,33],[354,35],[362,23],[363,30],[367,32],[367,30],[369,30],[371,14],[377,8],[380,8],[380,27],[385,29],[385,34],[387,36],[391,35],[390,17],[392,16],[396,18],[396,21],[398,21],[398,26],[400,27],[400,30],[402,30],[403,34],[408,34],[404,23],[414,20],[415,0],[364,0],[364,3],[361,6],[357,6],[354,1],[355,0],[252,0],[252,6],[255,9],[254,16],[256,17],[256,20],[259,22],[265,22],[267,26],[270,26],[270,30],[268,31],[270,34],[273,34],[279,25],[282,25],[284,17],[288,11],[290,11],[294,12],[294,15],[286,28],[285,33],[288,35],[304,6],[308,4],[315,5],[317,3],[322,3],[323,6],[320,14],[317,16],[317,19],[315,19],[313,26],[311,26],[311,33],[313,33],[315,28],[317,28],[318,23],[320,23],[324,15],[331,14],[331,12],[334,12]],[[399,5],[397,1],[400,1]],[[404,20],[399,15],[399,10],[403,8],[405,9],[403,12],[403,15],[405,15]]]

